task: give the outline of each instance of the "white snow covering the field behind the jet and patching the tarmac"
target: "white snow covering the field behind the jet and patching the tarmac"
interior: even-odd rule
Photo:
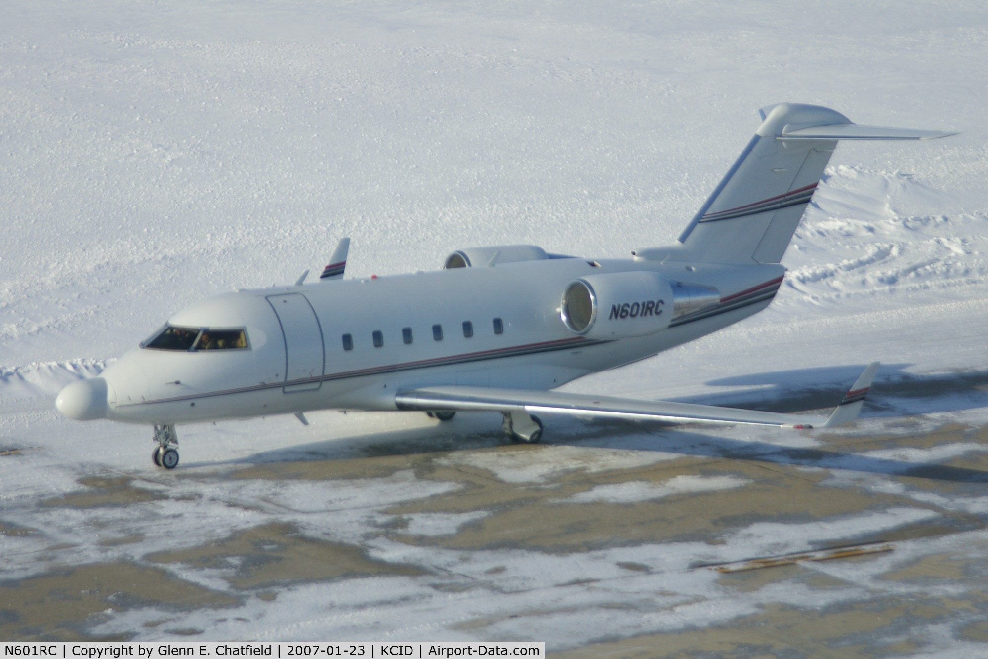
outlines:
[[[320,268],[345,235],[354,241],[351,276],[436,268],[453,249],[477,244],[620,257],[671,242],[757,127],[754,111],[797,101],[860,124],[962,133],[841,145],[769,309],[570,388],[784,402],[839,393],[877,359],[886,366],[870,418],[846,438],[947,423],[979,428],[988,424],[980,388],[988,382],[986,69],[988,8],[976,1],[8,0],[0,9],[0,451],[22,452],[0,456],[0,579],[130,561],[233,593],[229,565],[148,556],[221,545],[282,521],[303,535],[365,547],[373,561],[433,576],[487,575],[495,586],[484,597],[454,596],[453,577],[444,577],[444,590],[421,576],[369,576],[276,586],[274,601],[239,600],[239,613],[221,622],[199,610],[165,615],[130,602],[73,628],[138,638],[169,628],[213,638],[518,637],[572,648],[727,623],[768,602],[826,606],[819,594],[781,586],[739,595],[686,568],[918,523],[933,515],[929,506],[948,509],[950,501],[920,502],[916,494],[915,506],[862,510],[824,531],[811,521],[752,524],[722,545],[607,545],[602,536],[561,559],[555,549],[493,542],[470,550],[467,566],[465,549],[373,531],[400,518],[415,537],[458,537],[496,516],[483,506],[388,512],[465,487],[453,477],[400,465],[377,475],[369,467],[360,478],[337,467],[341,478],[329,480],[231,474],[313,455],[346,464],[454,450],[437,464],[503,483],[558,485],[573,469],[681,460],[683,447],[702,446],[703,436],[732,447],[754,441],[752,451],[770,453],[826,443],[740,429],[663,435],[622,427],[609,436],[607,425],[563,421],[547,433],[549,448],[499,453],[489,415],[439,429],[418,415],[324,413],[306,428],[291,417],[190,427],[182,433],[185,475],[149,474],[149,429],[69,422],[53,411],[54,392],[99,371],[187,303]],[[656,442],[683,450],[657,453]],[[968,437],[894,459],[946,462],[981,446]],[[888,477],[901,472],[894,465],[864,469],[874,479],[864,485],[838,482],[861,474],[842,459],[850,461],[828,467],[835,487],[899,487]],[[95,507],[60,499],[116,487],[80,485],[96,476],[137,478],[139,491],[127,496],[143,498]],[[682,473],[601,482],[560,492],[546,506],[726,496],[751,481],[743,473]],[[965,497],[965,514],[984,520],[988,493]],[[936,551],[974,552],[975,560],[988,536],[968,533],[982,535],[967,536],[968,544],[946,535],[903,545],[894,560]],[[616,577],[628,570],[614,565],[654,567],[660,554],[661,576]],[[893,559],[881,560],[832,569],[859,570],[867,581]],[[615,587],[553,589],[587,575],[614,578],[606,583]],[[635,604],[645,593],[655,599]],[[319,608],[343,600],[339,612]],[[553,609],[556,600],[568,608]],[[617,601],[624,608],[604,606]],[[457,618],[461,607],[468,613]],[[522,609],[556,613],[512,621]],[[175,621],[154,623],[162,617]],[[456,627],[454,618],[500,621]],[[929,634],[931,651],[961,656],[963,635],[938,629]]]

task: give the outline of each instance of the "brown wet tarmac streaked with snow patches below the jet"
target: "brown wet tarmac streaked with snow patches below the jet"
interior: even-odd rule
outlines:
[[[0,638],[376,629],[546,640],[559,657],[964,656],[988,641],[986,426],[886,417],[802,441],[568,421],[525,446],[486,421],[346,456],[324,443],[175,472],[96,466],[32,504],[59,531],[27,508],[0,516],[36,572],[0,572]],[[171,525],[167,542],[145,517]],[[869,543],[887,548],[856,549]],[[830,547],[850,550],[717,570]],[[323,600],[336,605],[307,608]]]

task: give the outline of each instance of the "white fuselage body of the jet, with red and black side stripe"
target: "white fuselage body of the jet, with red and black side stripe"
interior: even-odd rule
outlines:
[[[663,329],[645,336],[587,338],[563,323],[560,300],[571,282],[634,271],[715,288],[719,298],[677,320],[670,301]],[[244,328],[246,348],[134,348],[102,373],[106,407],[99,416],[174,424],[318,409],[394,410],[394,395],[405,387],[551,389],[760,311],[783,272],[779,265],[559,258],[236,290],[193,304],[168,324]]]

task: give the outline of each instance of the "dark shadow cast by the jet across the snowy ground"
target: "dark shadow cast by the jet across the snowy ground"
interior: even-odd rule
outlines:
[[[963,371],[916,375],[904,371],[907,364],[882,366],[882,377],[865,402],[865,417],[890,417],[922,411],[949,412],[983,405],[988,371]],[[723,386],[772,386],[756,392],[704,394],[682,398],[704,404],[759,406],[770,411],[802,411],[832,406],[840,385],[819,382],[851,381],[860,365],[767,371],[724,377],[707,384]],[[889,372],[891,371],[891,372]],[[798,382],[813,382],[803,385]],[[727,398],[728,400],[725,400]],[[915,403],[922,401],[917,410]],[[623,451],[680,453],[683,455],[758,460],[778,464],[839,469],[953,482],[988,482],[988,471],[938,463],[840,452],[821,448],[787,447],[757,440],[736,440],[704,434],[686,426],[625,419],[574,419],[546,415],[543,444]],[[760,431],[784,441],[789,430]],[[892,440],[894,441],[894,440]],[[513,443],[500,432],[499,415],[491,412],[461,414],[452,423],[344,437],[297,447],[254,453],[240,460],[208,464],[263,464],[272,462],[339,460],[357,457],[413,455],[475,451]],[[537,459],[534,454],[533,459]],[[200,463],[199,466],[206,466]]]

